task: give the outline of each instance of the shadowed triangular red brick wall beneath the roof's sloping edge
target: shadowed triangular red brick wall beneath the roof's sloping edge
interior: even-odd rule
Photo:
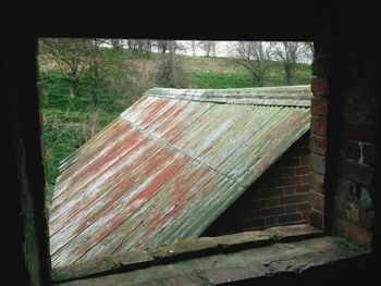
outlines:
[[[204,236],[307,223],[311,208],[309,153],[309,134],[305,134],[205,232]]]

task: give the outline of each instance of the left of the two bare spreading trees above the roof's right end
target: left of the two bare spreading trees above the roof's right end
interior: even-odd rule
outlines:
[[[270,73],[270,46],[263,41],[238,41],[233,46],[233,63],[248,71],[258,86],[266,86]]]

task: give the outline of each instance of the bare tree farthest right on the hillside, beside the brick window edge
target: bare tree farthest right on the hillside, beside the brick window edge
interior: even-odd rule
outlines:
[[[286,85],[295,84],[295,71],[302,57],[304,43],[300,41],[274,41],[271,42],[272,53],[275,60],[282,62]]]

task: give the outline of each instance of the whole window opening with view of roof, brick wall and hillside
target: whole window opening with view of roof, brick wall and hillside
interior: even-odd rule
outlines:
[[[306,223],[309,48],[39,39],[52,266]]]

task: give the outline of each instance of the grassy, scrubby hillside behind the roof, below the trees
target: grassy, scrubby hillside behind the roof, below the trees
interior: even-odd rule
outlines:
[[[109,61],[113,54],[103,52],[105,78],[98,102],[90,92],[90,78],[79,77],[79,95],[73,96],[67,78],[54,62],[39,55],[39,92],[44,124],[44,146],[47,172],[47,203],[57,176],[59,163],[76,148],[90,139],[122,111],[136,101],[144,90],[157,86],[152,75],[158,55],[139,57],[124,52],[118,64]],[[189,88],[254,87],[249,73],[234,67],[226,58],[181,57]],[[310,66],[299,64],[296,84],[309,84]],[[269,86],[284,85],[284,72],[278,62],[272,63]]]

